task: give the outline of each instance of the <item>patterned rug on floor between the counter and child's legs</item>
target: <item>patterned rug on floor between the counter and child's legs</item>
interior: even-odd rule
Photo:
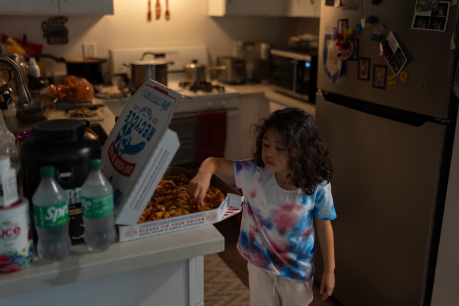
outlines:
[[[204,256],[204,305],[249,305],[248,288],[218,254]]]

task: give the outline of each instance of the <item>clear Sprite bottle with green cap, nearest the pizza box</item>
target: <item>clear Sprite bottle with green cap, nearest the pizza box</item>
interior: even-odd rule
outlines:
[[[84,240],[90,251],[105,251],[115,242],[113,188],[99,159],[89,161],[89,174],[81,187]]]

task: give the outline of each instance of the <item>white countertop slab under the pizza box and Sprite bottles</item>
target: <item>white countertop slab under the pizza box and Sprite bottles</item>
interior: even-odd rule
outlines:
[[[63,261],[47,264],[38,256],[30,268],[0,276],[0,297],[70,284],[98,276],[161,265],[224,250],[224,238],[213,225],[115,243],[91,253],[85,244],[71,247]]]

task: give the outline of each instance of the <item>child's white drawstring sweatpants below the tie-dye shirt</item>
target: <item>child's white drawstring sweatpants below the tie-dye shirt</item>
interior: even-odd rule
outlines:
[[[296,283],[250,263],[247,269],[250,306],[307,306],[313,300],[313,279],[308,283]]]

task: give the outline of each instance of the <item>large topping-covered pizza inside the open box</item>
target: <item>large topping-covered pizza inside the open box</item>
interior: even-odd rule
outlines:
[[[190,179],[183,173],[164,175],[138,223],[215,209],[225,199],[219,188],[210,186],[202,202],[196,204],[187,192],[189,182]]]

